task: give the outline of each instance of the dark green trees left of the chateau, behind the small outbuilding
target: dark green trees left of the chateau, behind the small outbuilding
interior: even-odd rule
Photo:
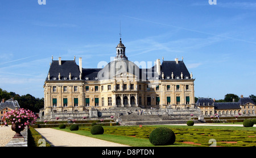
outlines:
[[[38,113],[39,109],[44,107],[44,98],[35,98],[30,94],[22,95],[16,94],[15,92],[7,92],[0,88],[0,99],[8,100],[13,98],[18,101],[19,106],[24,109],[29,109],[34,113]]]

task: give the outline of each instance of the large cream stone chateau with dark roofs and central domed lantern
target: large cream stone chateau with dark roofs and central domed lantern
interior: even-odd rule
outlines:
[[[44,82],[44,115],[125,107],[194,109],[194,81],[183,59],[139,68],[128,60],[121,39],[104,68],[82,68],[74,60],[53,60]]]

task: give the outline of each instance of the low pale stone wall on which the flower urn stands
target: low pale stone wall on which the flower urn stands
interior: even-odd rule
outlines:
[[[26,126],[24,130],[20,132],[24,138],[13,138],[5,145],[5,147],[27,147],[27,130]]]

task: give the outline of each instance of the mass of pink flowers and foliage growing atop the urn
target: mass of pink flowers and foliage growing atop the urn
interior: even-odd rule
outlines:
[[[15,123],[21,128],[21,126],[35,124],[36,115],[32,111],[22,108],[5,113],[3,119],[12,124]]]

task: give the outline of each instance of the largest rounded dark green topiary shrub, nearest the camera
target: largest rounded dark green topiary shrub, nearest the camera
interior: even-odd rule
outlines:
[[[171,145],[175,142],[174,132],[167,127],[158,127],[149,136],[150,143],[153,145]]]

